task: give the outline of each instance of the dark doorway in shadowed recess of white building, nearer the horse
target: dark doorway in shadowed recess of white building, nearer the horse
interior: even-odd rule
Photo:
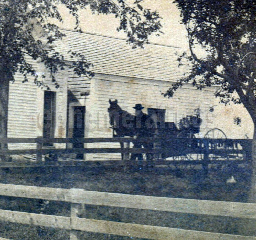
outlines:
[[[73,138],[84,138],[85,106],[74,107]],[[73,148],[83,148],[83,143],[74,143]],[[83,154],[78,153],[77,159],[83,159]]]

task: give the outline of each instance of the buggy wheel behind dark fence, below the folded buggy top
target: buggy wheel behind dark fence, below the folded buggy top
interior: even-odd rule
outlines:
[[[188,133],[186,130],[181,131],[179,134],[177,134],[177,138],[196,138],[196,136],[193,133]],[[188,144],[189,147],[192,147],[190,144]],[[180,146],[182,147],[182,146]],[[180,161],[180,160],[202,160],[202,154],[200,153],[184,153],[184,155],[179,155],[179,156],[173,156],[172,160],[175,161]],[[178,163],[178,162],[177,162]],[[184,165],[180,165],[180,164],[175,164],[176,168],[178,169],[187,169],[188,165],[184,166]],[[195,169],[196,165],[189,165],[189,169]]]

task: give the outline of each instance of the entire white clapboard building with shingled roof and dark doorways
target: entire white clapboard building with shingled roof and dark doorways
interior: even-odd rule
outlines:
[[[145,113],[154,109],[166,122],[178,122],[200,108],[203,123],[198,137],[212,128],[222,129],[228,138],[244,138],[246,133],[252,137],[251,120],[243,106],[220,105],[214,97],[214,87],[200,91],[185,84],[173,98],[161,95],[186,71],[184,67],[178,67],[177,57],[181,49],[159,44],[132,49],[124,39],[62,31],[66,37],[56,44],[56,49],[70,64],[73,59],[68,57],[69,50],[85,55],[93,63],[91,70],[95,76],[90,79],[78,77],[68,70],[60,71],[56,75],[60,87],[56,89],[43,64],[31,62],[38,75],[44,73],[47,76],[44,81],[50,90],[38,88],[32,78],[22,83],[22,76],[15,75],[16,81],[10,84],[8,137],[112,137],[107,111],[109,99],[117,99],[119,106],[132,114],[135,113],[134,105],[140,103]],[[215,108],[213,113],[208,111],[210,106]],[[44,120],[45,113],[52,114]],[[242,121],[246,119],[241,127],[234,124],[236,116]],[[112,145],[85,144],[86,147]],[[34,148],[35,145],[10,144],[9,147]],[[46,147],[62,148],[65,145]],[[84,157],[105,159],[108,155],[88,154]]]

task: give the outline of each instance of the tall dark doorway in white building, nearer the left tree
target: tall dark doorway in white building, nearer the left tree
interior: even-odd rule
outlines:
[[[43,138],[54,138],[55,130],[55,92],[44,92]],[[53,146],[53,143],[44,143]]]

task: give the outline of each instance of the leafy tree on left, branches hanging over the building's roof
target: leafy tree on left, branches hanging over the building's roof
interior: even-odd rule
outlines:
[[[93,14],[114,14],[120,20],[117,30],[124,31],[127,41],[135,48],[148,43],[148,36],[152,33],[161,32],[161,17],[156,11],[144,9],[141,1],[134,0],[130,6],[125,0],[0,0],[0,137],[7,137],[9,83],[15,81],[15,73],[23,74],[24,82],[31,74],[36,85],[47,87],[36,75],[26,55],[44,63],[56,87],[58,83],[54,74],[65,67],[73,69],[78,75],[93,76],[89,69],[91,64],[83,55],[70,52],[75,60],[67,66],[64,56],[54,50],[53,43],[64,36],[57,25],[49,23],[51,18],[63,22],[58,4],[69,9],[76,21],[77,31],[81,31],[79,9],[88,8]],[[41,28],[40,36],[34,34],[37,26]],[[6,144],[1,146],[2,149],[6,147]]]

